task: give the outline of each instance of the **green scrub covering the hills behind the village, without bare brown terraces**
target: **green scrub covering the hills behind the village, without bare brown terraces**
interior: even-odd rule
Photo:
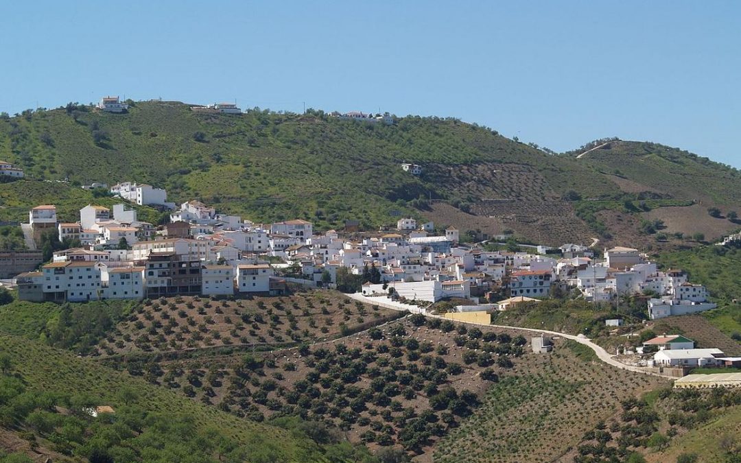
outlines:
[[[602,173],[614,168],[605,170],[597,152],[579,160],[551,156],[452,118],[408,116],[385,126],[340,121],[316,110],[304,115],[257,108],[240,116],[199,114],[173,101],[136,102],[125,114],[70,107],[75,109],[30,111],[0,120],[0,158],[19,164],[31,179],[0,184],[0,219],[18,221],[29,207],[50,202],[59,206],[63,220],[72,219],[85,204],[115,201],[104,191],[82,190],[80,184],[126,179],[165,187],[173,201],[201,199],[225,213],[259,221],[298,217],[318,229],[342,227],[345,219],[358,219],[371,229],[400,214],[419,216],[429,199],[467,210],[491,196],[564,198],[599,227],[591,220],[596,210],[686,205],[705,191],[694,182],[677,181],[668,186],[682,184],[683,190],[652,193],[646,187],[644,193],[622,193]],[[684,163],[688,173],[702,171],[722,204],[739,203],[733,192],[740,190],[741,179],[735,170],[660,145],[618,144],[614,149],[627,160],[648,150],[648,159],[671,157]],[[424,173],[404,173],[402,161],[422,164]],[[502,184],[510,190],[499,191],[500,182],[488,182],[482,190],[475,182],[461,181],[463,166],[487,175],[497,166],[507,173],[514,166],[539,186],[527,193]],[[652,184],[643,167],[621,166],[620,171]],[[665,176],[665,165],[659,162],[659,167]],[[592,199],[602,201],[585,204]],[[153,210],[141,215],[153,223],[162,219]]]

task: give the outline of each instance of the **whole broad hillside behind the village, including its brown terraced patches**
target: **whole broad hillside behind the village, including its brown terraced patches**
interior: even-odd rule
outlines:
[[[661,218],[665,232],[710,239],[734,224],[713,219],[695,230],[697,214],[709,220],[711,205],[741,208],[737,170],[691,153],[615,141],[580,159],[552,156],[452,118],[407,116],[386,126],[313,110],[210,115],[140,101],[109,114],[70,104],[0,119],[0,159],[35,180],[0,184],[0,219],[16,221],[41,198],[56,196],[70,210],[90,202],[75,185],[129,179],[254,221],[299,217],[328,229],[358,219],[373,229],[411,215],[479,238],[511,230],[550,244],[654,244],[639,227]],[[403,172],[402,161],[422,164],[422,176]],[[63,179],[70,184],[44,181]]]

